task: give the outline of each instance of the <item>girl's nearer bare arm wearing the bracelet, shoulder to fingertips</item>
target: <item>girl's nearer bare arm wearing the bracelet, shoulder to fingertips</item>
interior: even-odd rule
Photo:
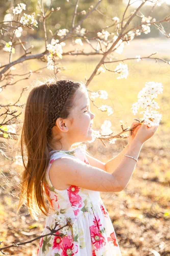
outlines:
[[[138,158],[142,144],[154,134],[156,129],[157,126],[148,128],[147,125],[142,125],[126,154]],[[136,161],[133,158],[124,156],[116,169],[108,173],[68,156],[53,162],[49,170],[49,178],[52,185],[59,190],[75,185],[94,191],[119,192],[126,187],[135,165]],[[111,161],[106,168],[112,168]]]

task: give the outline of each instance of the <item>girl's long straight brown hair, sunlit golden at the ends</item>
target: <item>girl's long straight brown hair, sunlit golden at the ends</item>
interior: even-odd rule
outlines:
[[[25,105],[21,134],[24,171],[18,210],[24,202],[27,202],[29,212],[35,219],[37,214],[43,213],[47,216],[48,213],[43,193],[43,180],[49,163],[52,139],[47,133],[50,87],[56,83],[55,80],[48,79],[43,84],[36,84],[29,93]],[[81,90],[82,87],[81,83],[74,82],[59,117],[68,117],[74,105],[75,92],[77,89]]]

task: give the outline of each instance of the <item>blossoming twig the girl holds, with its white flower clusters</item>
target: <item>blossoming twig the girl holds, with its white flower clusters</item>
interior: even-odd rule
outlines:
[[[160,120],[162,118],[162,114],[159,114],[157,109],[159,109],[158,103],[155,101],[158,94],[163,92],[163,87],[161,83],[155,83],[155,82],[148,82],[145,84],[145,87],[138,93],[138,101],[132,105],[132,112],[135,115],[139,109],[141,109],[140,114],[143,115],[141,118],[142,121],[139,121],[138,119],[134,118],[135,121],[138,121],[135,126],[132,128],[126,127],[126,123],[121,123],[122,131],[116,135],[113,135],[114,132],[111,130],[111,122],[108,120],[105,120],[104,123],[101,125],[101,133],[99,131],[94,131],[92,133],[93,140],[90,141],[93,142],[96,138],[98,138],[103,145],[106,147],[106,144],[103,142],[103,140],[108,140],[110,144],[114,144],[116,141],[116,138],[128,138],[127,134],[123,134],[125,132],[130,132],[130,135],[132,135],[132,131],[135,127],[137,127],[139,124],[147,124],[148,127],[159,125]],[[95,105],[95,100],[97,98],[106,100],[108,98],[108,93],[103,90],[99,90],[97,92],[91,92],[90,99]],[[95,105],[96,106],[96,105]],[[107,105],[102,105],[101,107],[98,107],[101,111],[105,111],[108,113],[108,116],[111,115],[112,109],[111,107]],[[155,110],[156,109],[156,110]],[[123,135],[122,135],[123,134]]]

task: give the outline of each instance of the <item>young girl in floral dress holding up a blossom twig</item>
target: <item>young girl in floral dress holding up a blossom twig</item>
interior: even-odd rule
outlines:
[[[76,142],[92,140],[95,115],[89,105],[86,87],[73,81],[48,80],[28,96],[21,138],[23,162],[27,164],[20,206],[26,199],[31,216],[40,212],[47,216],[43,234],[50,232],[46,226],[53,229],[57,223],[56,229],[63,227],[66,218],[71,223],[56,232],[62,232],[61,236],[42,238],[38,256],[121,255],[99,192],[118,192],[126,187],[142,144],[157,127],[143,124],[134,128],[124,150],[105,164],[80,148],[71,150]]]

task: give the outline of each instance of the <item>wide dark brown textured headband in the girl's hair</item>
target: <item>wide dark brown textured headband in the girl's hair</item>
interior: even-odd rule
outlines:
[[[74,82],[70,80],[60,80],[50,86],[49,115],[47,133],[50,135],[53,126],[64,104],[66,103]]]

